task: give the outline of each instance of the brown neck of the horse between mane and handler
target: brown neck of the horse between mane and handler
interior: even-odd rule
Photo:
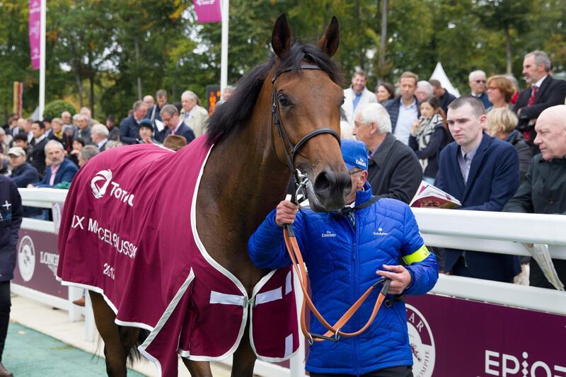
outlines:
[[[200,204],[246,233],[284,199],[290,177],[272,149],[270,95],[260,98],[250,123],[214,146],[200,185]]]

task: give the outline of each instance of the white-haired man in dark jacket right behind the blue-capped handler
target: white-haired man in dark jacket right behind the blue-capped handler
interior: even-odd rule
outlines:
[[[422,180],[422,167],[415,153],[391,134],[388,112],[379,103],[357,110],[352,134],[369,152],[368,182],[374,195],[409,203]]]

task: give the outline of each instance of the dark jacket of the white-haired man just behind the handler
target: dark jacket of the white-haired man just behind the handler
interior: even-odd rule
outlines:
[[[374,195],[409,203],[422,180],[422,168],[415,152],[387,134],[368,161],[369,184]]]

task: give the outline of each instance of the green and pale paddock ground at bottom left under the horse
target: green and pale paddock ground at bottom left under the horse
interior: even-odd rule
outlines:
[[[71,322],[66,311],[22,296],[12,296],[8,337],[2,364],[15,377],[105,376],[103,343],[85,340],[84,322]],[[214,376],[229,377],[222,364],[212,364]],[[128,376],[156,376],[154,364],[136,361]],[[179,360],[179,376],[189,376]]]

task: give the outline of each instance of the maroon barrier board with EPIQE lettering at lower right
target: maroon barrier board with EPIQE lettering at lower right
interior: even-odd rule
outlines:
[[[415,377],[566,376],[566,316],[427,294],[407,297]]]

